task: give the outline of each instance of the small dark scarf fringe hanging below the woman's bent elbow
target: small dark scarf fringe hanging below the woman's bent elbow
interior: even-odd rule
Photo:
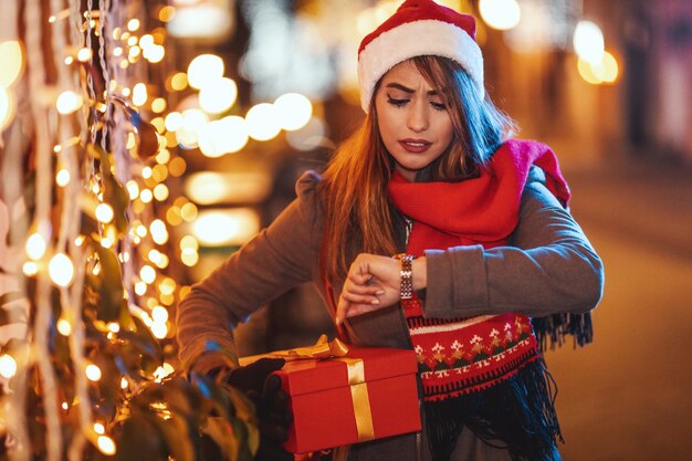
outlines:
[[[574,339],[574,347],[583,347],[594,340],[594,325],[591,313],[584,314],[554,314],[547,317],[534,317],[531,319],[534,333],[542,352],[546,352],[548,346],[565,344],[565,338],[570,335]]]

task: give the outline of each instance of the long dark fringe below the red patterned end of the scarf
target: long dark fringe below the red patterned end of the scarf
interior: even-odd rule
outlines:
[[[485,443],[507,449],[514,461],[553,460],[564,442],[555,397],[557,388],[542,359],[481,392],[426,401],[426,423],[433,461],[449,461],[466,427]]]

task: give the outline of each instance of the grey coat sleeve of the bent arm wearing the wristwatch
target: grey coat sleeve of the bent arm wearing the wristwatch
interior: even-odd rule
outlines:
[[[424,315],[584,313],[601,298],[604,269],[586,235],[538,181],[524,189],[507,247],[427,251]]]

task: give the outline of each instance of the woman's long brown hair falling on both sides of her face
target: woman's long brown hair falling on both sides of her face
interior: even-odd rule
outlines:
[[[429,167],[431,179],[458,181],[475,175],[511,135],[512,121],[487,96],[479,96],[469,74],[455,62],[439,56],[411,61],[433,88],[442,88],[454,132],[447,151]],[[379,82],[374,95],[378,90]],[[332,282],[347,273],[358,252],[397,251],[387,191],[392,169],[373,96],[365,121],[336,149],[319,184],[326,213],[323,270]]]

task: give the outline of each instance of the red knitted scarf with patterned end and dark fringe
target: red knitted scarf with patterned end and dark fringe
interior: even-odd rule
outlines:
[[[507,244],[532,165],[543,169],[547,188],[566,207],[569,189],[557,159],[534,142],[504,143],[478,178],[461,182],[408,182],[395,174],[392,203],[413,221],[407,253]],[[555,389],[532,321],[517,313],[426,318],[417,295],[402,307],[418,357],[433,459],[450,459],[464,427],[506,447],[515,460],[552,459],[555,440],[562,440]],[[541,343],[546,334],[556,339],[575,333],[579,344],[590,337],[588,319],[567,315],[544,321],[542,329]]]

